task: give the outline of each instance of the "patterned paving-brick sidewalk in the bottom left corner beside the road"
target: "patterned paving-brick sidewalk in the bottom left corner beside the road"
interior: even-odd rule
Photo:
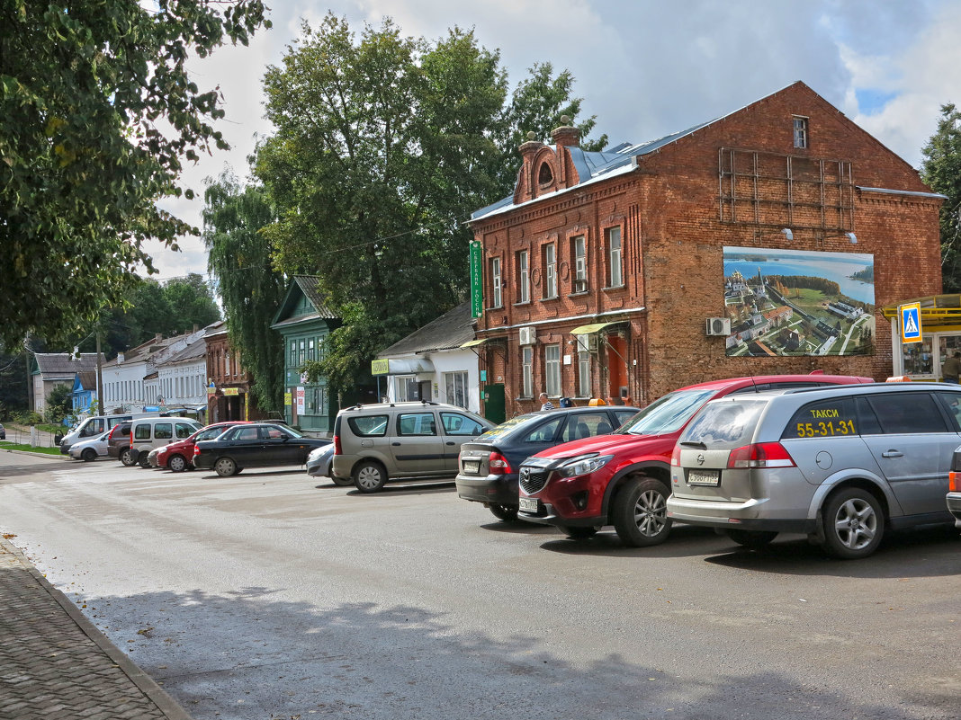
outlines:
[[[190,720],[23,554],[0,539],[0,718]]]

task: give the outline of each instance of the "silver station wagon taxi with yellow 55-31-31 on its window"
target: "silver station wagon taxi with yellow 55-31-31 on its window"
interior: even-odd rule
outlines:
[[[803,533],[838,558],[887,528],[952,523],[961,387],[850,385],[707,403],[678,438],[668,516],[760,546]]]

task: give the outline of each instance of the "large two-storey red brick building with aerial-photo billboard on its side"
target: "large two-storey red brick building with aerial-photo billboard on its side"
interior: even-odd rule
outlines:
[[[508,416],[543,390],[646,404],[733,375],[883,379],[880,308],[941,292],[942,196],[803,83],[648,143],[588,153],[567,126],[553,140],[522,145],[513,196],[471,220],[485,262],[483,394],[503,392]],[[778,252],[812,268],[868,258],[863,275],[838,279],[873,278],[874,297],[834,283],[818,300],[809,278],[767,279],[777,266],[760,260]],[[736,259],[757,261],[756,276],[726,278]]]

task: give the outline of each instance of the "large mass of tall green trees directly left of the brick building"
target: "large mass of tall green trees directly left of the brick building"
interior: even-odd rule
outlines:
[[[304,23],[264,78],[276,133],[255,172],[278,208],[264,230],[278,267],[320,276],[351,319],[310,374],[345,390],[374,352],[466,298],[463,221],[512,192],[523,125],[545,132],[579,110],[570,74],[552,73],[536,65],[510,96],[473,32],[429,42],[389,18],[359,36],[333,14]]]

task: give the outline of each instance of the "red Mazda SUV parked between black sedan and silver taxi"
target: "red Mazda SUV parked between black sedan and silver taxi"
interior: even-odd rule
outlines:
[[[667,540],[671,452],[688,420],[714,397],[761,390],[874,382],[853,375],[758,375],[702,382],[668,393],[613,435],[555,445],[520,468],[518,517],[589,538],[604,525],[632,547]]]

